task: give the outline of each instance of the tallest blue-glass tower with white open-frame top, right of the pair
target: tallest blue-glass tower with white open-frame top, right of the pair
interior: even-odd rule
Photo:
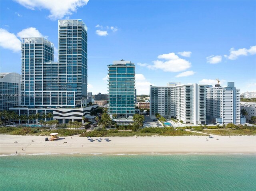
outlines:
[[[58,21],[58,85],[66,105],[87,97],[87,27],[82,20]]]

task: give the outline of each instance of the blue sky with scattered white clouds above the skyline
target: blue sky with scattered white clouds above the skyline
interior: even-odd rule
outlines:
[[[168,82],[234,81],[256,91],[256,1],[1,1],[0,72],[21,71],[20,37],[58,48],[58,19],[88,27],[88,91],[107,93],[107,65],[136,64],[138,94]]]

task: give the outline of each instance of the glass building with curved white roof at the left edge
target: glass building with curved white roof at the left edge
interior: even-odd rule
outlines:
[[[21,75],[0,73],[0,111],[20,105]]]

